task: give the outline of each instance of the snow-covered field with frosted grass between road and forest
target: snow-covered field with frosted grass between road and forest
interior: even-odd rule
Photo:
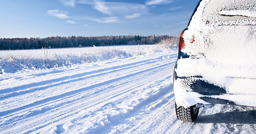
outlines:
[[[0,73],[58,68],[159,51],[163,48],[156,45],[0,51]]]

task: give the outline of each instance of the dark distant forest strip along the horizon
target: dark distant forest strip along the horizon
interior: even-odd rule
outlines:
[[[47,37],[47,38],[0,38],[0,50],[69,48],[110,45],[157,44],[161,39],[173,38],[161,36],[101,36],[101,37]]]

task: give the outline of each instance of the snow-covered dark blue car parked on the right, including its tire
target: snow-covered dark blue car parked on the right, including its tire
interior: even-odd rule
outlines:
[[[181,33],[175,110],[195,121],[214,104],[256,107],[256,0],[201,0]]]

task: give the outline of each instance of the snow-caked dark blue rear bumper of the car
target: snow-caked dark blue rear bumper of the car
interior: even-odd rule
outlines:
[[[179,50],[174,67],[175,102],[183,107],[195,104],[256,107],[256,68],[251,67],[188,56]]]

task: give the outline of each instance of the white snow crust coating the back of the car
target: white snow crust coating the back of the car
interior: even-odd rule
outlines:
[[[247,10],[254,14],[255,5],[254,0],[201,1],[188,25],[188,30],[183,35],[185,48],[181,51],[187,53],[190,58],[180,59],[177,62],[177,76],[203,76],[202,80],[223,87],[227,93],[248,95],[247,98],[235,95],[214,96],[214,98],[225,98],[236,104],[256,106],[255,102],[248,99],[253,99],[256,92],[254,84],[256,80],[255,18],[219,14],[247,13]],[[195,80],[197,79],[191,79],[188,82],[192,84]],[[190,88],[184,86],[182,82],[178,83],[177,89],[180,90],[174,90],[174,93],[175,96],[177,94],[179,106],[207,104],[202,102],[203,100],[195,99],[195,96],[201,97],[199,94],[184,93],[182,90],[190,90]]]

